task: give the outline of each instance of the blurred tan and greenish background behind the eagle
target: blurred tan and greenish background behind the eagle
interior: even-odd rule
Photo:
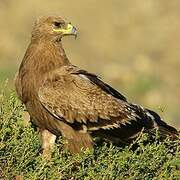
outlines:
[[[63,39],[73,64],[180,127],[179,0],[0,0],[1,85],[14,89],[34,20],[54,14],[78,29]]]

